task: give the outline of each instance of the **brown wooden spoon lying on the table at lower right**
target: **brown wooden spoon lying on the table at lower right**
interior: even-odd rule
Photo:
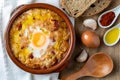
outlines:
[[[113,61],[109,55],[99,52],[92,55],[81,70],[61,80],[76,80],[84,76],[104,77],[113,70]]]

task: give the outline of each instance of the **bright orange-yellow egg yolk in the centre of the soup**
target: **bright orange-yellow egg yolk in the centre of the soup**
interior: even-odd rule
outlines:
[[[32,42],[36,47],[42,47],[46,42],[46,36],[40,32],[35,33]]]

